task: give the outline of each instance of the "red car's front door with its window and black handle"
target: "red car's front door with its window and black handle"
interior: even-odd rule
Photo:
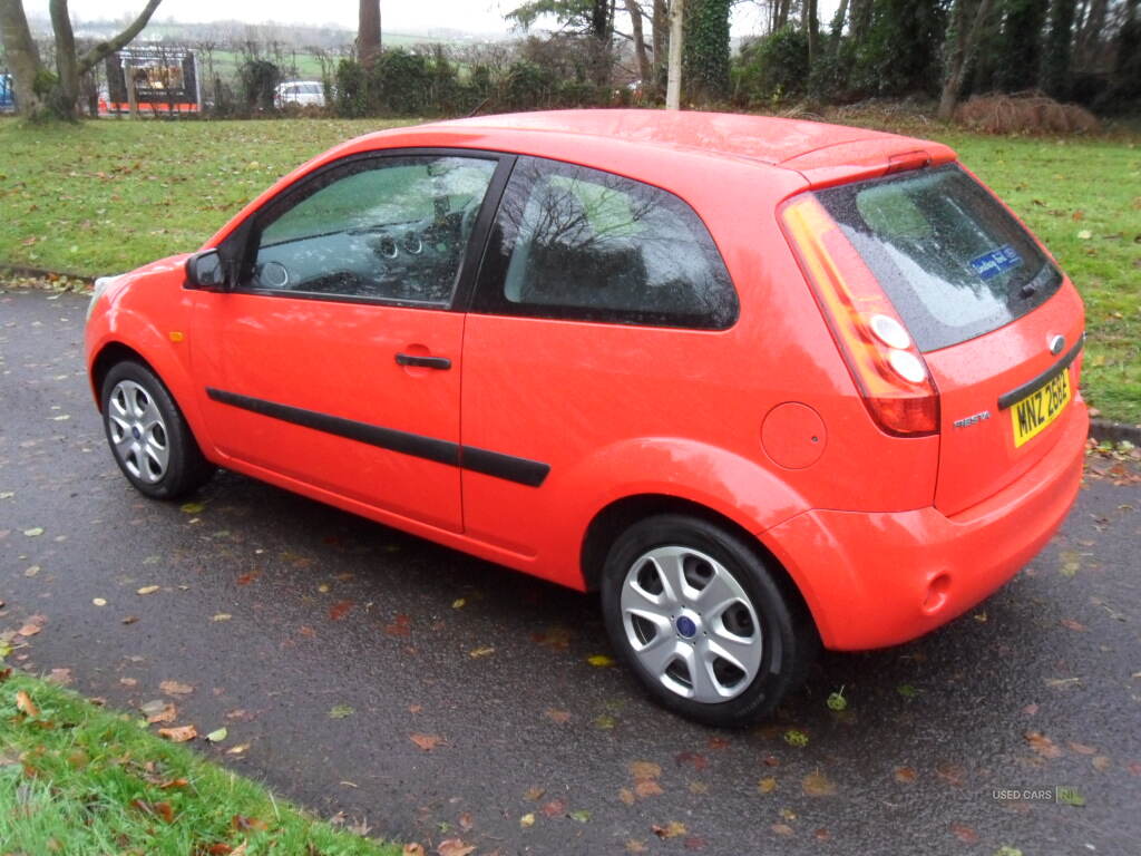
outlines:
[[[193,360],[218,451],[451,531],[463,314],[452,310],[493,155],[385,153],[262,207],[228,292],[199,292]]]

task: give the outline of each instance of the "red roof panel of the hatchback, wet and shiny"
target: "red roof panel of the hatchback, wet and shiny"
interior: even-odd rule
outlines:
[[[817,165],[830,159],[822,150],[837,147],[836,161],[851,144],[915,150],[919,140],[896,134],[776,116],[662,110],[561,110],[476,116],[422,126],[422,130],[504,132],[511,130],[582,136],[592,142],[655,148],[682,148],[727,158],[783,164],[809,153]],[[385,134],[381,131],[381,134]],[[876,146],[875,144],[880,144]],[[536,152],[536,154],[540,154]]]

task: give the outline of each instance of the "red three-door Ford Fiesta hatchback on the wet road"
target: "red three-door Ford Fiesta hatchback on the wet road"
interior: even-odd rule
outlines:
[[[534,113],[373,134],[100,280],[127,478],[226,467],[598,589],[694,719],[970,608],[1078,488],[1083,307],[946,146]]]

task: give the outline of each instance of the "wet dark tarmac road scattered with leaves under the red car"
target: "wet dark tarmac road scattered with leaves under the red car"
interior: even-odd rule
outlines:
[[[199,751],[429,851],[1141,853],[1134,470],[1099,465],[973,613],[825,655],[771,722],[715,732],[589,662],[593,597],[228,473],[201,510],[141,498],[83,377],[84,308],[0,293],[0,630],[46,616],[14,664],[119,709],[188,684],[178,724],[229,729]]]

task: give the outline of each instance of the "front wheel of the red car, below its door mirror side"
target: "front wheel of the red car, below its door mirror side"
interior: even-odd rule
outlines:
[[[111,453],[140,493],[175,500],[213,475],[215,466],[199,449],[183,412],[145,365],[113,365],[103,380],[100,402]]]

